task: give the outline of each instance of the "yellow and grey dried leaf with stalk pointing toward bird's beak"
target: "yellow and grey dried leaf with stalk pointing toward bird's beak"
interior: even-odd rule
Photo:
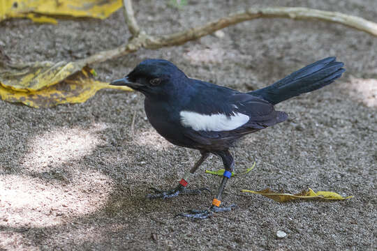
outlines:
[[[51,66],[40,68],[38,66]],[[36,63],[31,68],[24,68],[0,76],[0,97],[8,102],[22,102],[30,107],[53,107],[64,103],[85,102],[101,89],[120,89],[132,91],[127,86],[110,86],[108,83],[91,78],[90,68],[83,68],[74,73],[75,63]],[[69,76],[68,78],[66,78]],[[4,78],[6,81],[4,82]],[[20,82],[17,82],[17,79]]]

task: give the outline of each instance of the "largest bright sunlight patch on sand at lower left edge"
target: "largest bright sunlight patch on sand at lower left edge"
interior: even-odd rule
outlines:
[[[0,176],[0,190],[0,225],[47,227],[97,211],[108,201],[112,181],[93,170],[77,172],[69,185],[8,174]]]

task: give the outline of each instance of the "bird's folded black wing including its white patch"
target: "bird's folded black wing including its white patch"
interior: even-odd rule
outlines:
[[[208,98],[211,101],[211,98]],[[287,114],[274,110],[269,102],[246,93],[232,93],[220,105],[210,105],[211,114],[203,114],[206,102],[195,102],[193,109],[180,112],[184,134],[202,145],[226,146],[235,139],[285,121]]]

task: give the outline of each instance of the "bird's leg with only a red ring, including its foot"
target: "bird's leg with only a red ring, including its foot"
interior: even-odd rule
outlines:
[[[204,152],[204,151],[201,151],[200,153],[202,153],[202,156],[200,157],[200,159],[195,162],[195,165],[193,166],[193,168],[190,169],[190,172],[186,172],[186,174],[184,174],[184,177],[181,179],[181,181],[179,181],[179,184],[177,185],[177,187],[171,189],[171,190],[167,190],[167,191],[163,191],[163,190],[158,190],[156,188],[151,188],[152,190],[154,190],[155,194],[154,195],[147,195],[147,198],[149,199],[156,199],[156,198],[163,198],[163,199],[167,199],[167,198],[171,198],[171,197],[176,197],[178,195],[199,195],[202,191],[208,191],[209,192],[209,189],[208,188],[198,188],[198,189],[187,189],[186,188],[186,185],[188,184],[188,179],[190,178],[190,176],[195,173],[195,171],[198,169],[198,167],[200,167],[200,165],[202,165],[202,162],[204,162],[207,158],[208,158],[208,155],[209,153],[208,152]]]

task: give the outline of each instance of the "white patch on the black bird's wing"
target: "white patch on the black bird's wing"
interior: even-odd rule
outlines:
[[[221,132],[239,128],[249,121],[249,116],[236,112],[234,116],[226,114],[198,114],[197,112],[182,111],[182,126],[193,128],[193,130],[204,130],[212,132]]]

